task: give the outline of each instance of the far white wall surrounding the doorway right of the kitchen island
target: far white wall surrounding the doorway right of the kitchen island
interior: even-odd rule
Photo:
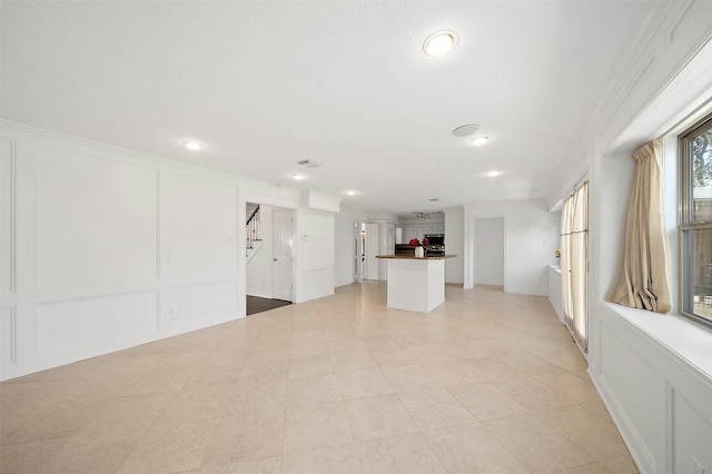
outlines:
[[[465,287],[477,282],[474,255],[476,219],[504,216],[504,290],[547,295],[547,266],[555,263],[558,219],[547,213],[544,200],[517,200],[465,205]]]

